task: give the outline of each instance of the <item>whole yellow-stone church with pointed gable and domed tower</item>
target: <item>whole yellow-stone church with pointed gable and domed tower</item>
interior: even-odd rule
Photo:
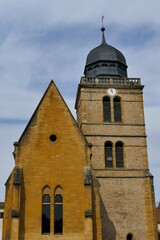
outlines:
[[[3,240],[156,240],[143,85],[102,43],[87,56],[74,120],[51,81],[18,142]]]

